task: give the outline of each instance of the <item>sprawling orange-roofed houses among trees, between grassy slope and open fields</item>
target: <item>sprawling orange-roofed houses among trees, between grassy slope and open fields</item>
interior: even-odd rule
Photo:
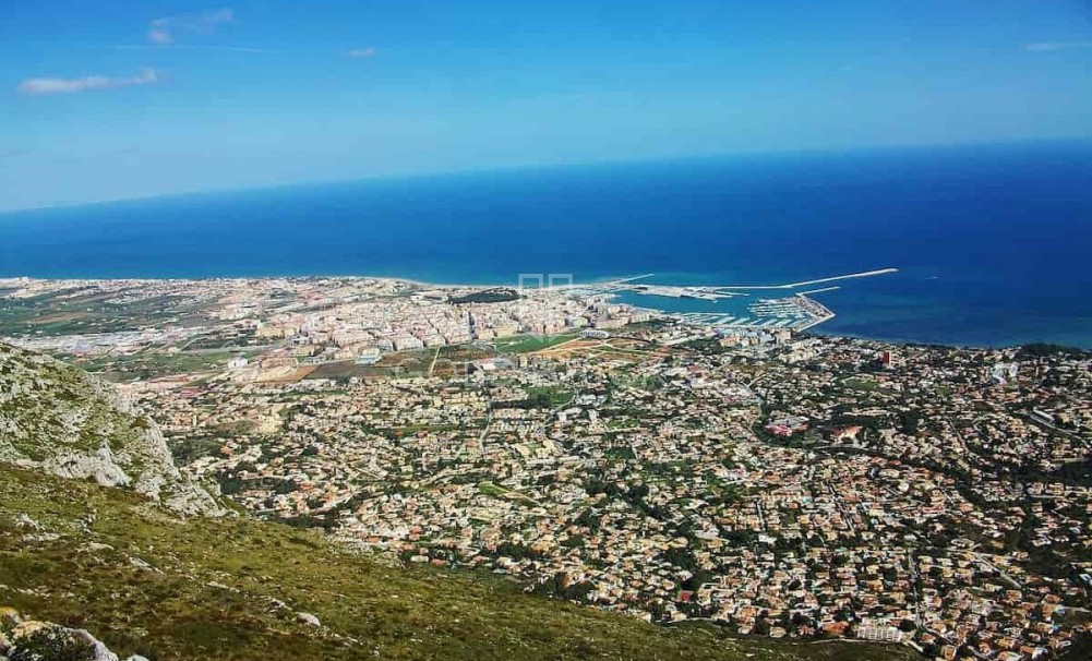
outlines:
[[[179,436],[200,435],[180,411],[211,416],[205,429],[275,411],[275,433],[229,435],[187,470],[235,484],[257,512],[408,562],[741,634],[898,641],[938,658],[1064,650],[1089,585],[1064,565],[1042,571],[1026,548],[1084,543],[1089,489],[1001,475],[1014,465],[1006,444],[1044,470],[1080,452],[1020,426],[1032,403],[1079,420],[1080,387],[1066,386],[1068,406],[1034,388],[1011,399],[996,389],[1017,386],[980,365],[1001,356],[900,349],[891,370],[878,344],[817,341],[821,368],[778,361],[785,343],[760,364],[746,352],[532,356],[460,379],[223,381],[146,397]],[[927,383],[934,399],[907,399]],[[559,397],[527,405],[544,391]],[[977,427],[952,432],[946,418],[968,411]],[[989,445],[989,460],[963,457]]]

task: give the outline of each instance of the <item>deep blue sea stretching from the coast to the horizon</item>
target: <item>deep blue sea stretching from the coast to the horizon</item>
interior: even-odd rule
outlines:
[[[817,294],[838,314],[817,330],[1092,347],[1092,143],[485,172],[0,215],[0,276],[778,284],[887,267],[900,271]]]

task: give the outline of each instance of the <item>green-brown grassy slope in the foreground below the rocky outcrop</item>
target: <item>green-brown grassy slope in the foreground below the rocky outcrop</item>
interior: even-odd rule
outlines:
[[[27,539],[40,533],[16,526],[24,512],[61,536]],[[655,627],[490,578],[387,567],[274,523],[174,519],[128,492],[5,464],[0,605],[87,628],[122,658],[154,661],[914,658],[905,648],[774,645]],[[296,611],[313,613],[323,628],[297,622]]]

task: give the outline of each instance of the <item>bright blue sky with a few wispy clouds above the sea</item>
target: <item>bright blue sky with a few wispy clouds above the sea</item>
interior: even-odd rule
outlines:
[[[0,3],[0,210],[1092,135],[1092,2]]]

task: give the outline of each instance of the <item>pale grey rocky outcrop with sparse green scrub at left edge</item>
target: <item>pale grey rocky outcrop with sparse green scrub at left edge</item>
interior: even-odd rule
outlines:
[[[158,427],[109,383],[0,344],[0,461],[132,488],[183,515],[222,508],[175,467]]]

